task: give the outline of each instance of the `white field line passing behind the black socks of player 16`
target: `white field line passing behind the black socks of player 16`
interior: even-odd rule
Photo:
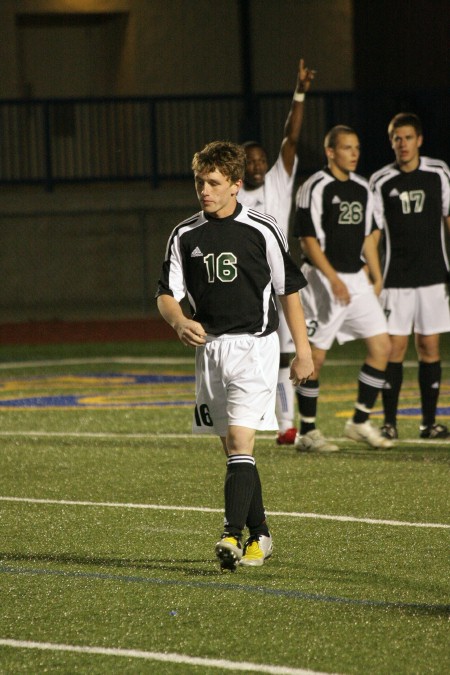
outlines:
[[[169,504],[134,504],[121,502],[91,502],[71,499],[37,499],[34,497],[0,496],[2,502],[19,502],[27,504],[55,504],[57,506],[94,506],[97,508],[116,509],[150,509],[153,511],[197,511],[200,513],[223,513],[223,509],[208,506],[174,506]],[[391,525],[396,527],[423,527],[450,529],[445,523],[410,523],[402,520],[383,520],[379,518],[357,518],[356,516],[336,516],[326,513],[302,513],[297,511],[267,511],[269,516],[282,518],[313,518],[317,520],[334,520],[342,523],[365,523],[367,525]]]

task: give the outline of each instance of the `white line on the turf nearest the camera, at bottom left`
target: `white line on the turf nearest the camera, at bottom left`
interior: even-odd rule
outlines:
[[[41,649],[52,652],[75,652],[78,654],[99,654],[103,656],[121,656],[125,658],[145,659],[146,661],[160,661],[166,663],[182,663],[189,666],[204,668],[222,668],[223,670],[247,671],[253,673],[270,673],[273,675],[326,675],[303,668],[288,668],[285,666],[270,666],[245,661],[228,661],[225,659],[207,659],[187,654],[168,654],[165,652],[148,652],[140,649],[117,649],[114,647],[90,647],[84,645],[65,645],[53,642],[32,642],[30,640],[10,640],[0,638],[0,647],[15,649]]]

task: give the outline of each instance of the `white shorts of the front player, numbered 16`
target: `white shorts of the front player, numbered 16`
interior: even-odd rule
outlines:
[[[196,348],[192,431],[226,436],[230,425],[276,430],[278,335],[208,336]]]

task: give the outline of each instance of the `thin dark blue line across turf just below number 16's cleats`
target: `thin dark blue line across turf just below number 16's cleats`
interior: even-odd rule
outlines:
[[[317,593],[305,593],[295,589],[264,588],[263,586],[244,586],[241,584],[216,583],[206,581],[178,581],[170,579],[154,579],[122,574],[106,574],[102,572],[66,572],[64,570],[26,569],[0,565],[0,573],[3,574],[29,574],[44,576],[60,576],[79,579],[100,579],[103,581],[117,581],[121,583],[155,584],[158,586],[185,586],[187,588],[221,589],[226,591],[243,591],[246,593],[258,593],[276,597],[293,598],[294,600],[312,600],[315,602],[328,602],[341,605],[354,605],[359,607],[380,607],[383,609],[408,609],[427,611],[433,613],[450,614],[450,605],[432,605],[422,602],[390,602],[385,600],[365,600],[357,598],[340,598],[331,595]]]

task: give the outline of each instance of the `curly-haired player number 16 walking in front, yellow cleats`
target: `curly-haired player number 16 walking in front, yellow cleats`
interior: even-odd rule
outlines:
[[[275,220],[238,204],[245,151],[215,141],[192,168],[202,210],[175,227],[157,290],[158,309],[181,342],[195,347],[194,433],[216,434],[227,456],[222,570],[259,566],[272,554],[253,457],[257,430],[277,429],[277,294],[296,354],[294,384],[313,370],[299,289],[305,279]],[[180,305],[188,298],[191,317]],[[249,537],[242,546],[242,534]]]

